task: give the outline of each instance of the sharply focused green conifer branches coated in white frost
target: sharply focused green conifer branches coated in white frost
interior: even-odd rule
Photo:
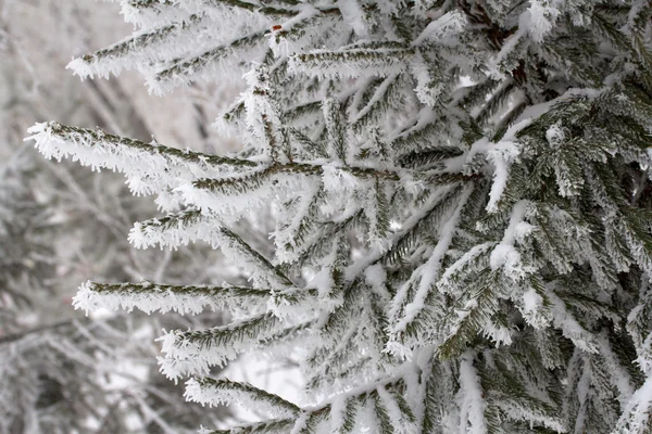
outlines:
[[[231,310],[161,339],[189,400],[268,414],[233,433],[650,432],[652,2],[122,5],[136,34],[70,67],[137,69],[153,93],[243,74],[216,123],[242,151],[57,123],[30,139],[156,196],[168,215],[135,225],[137,247],[204,241],[249,272],[248,286],[89,282],[76,297]],[[273,257],[235,229],[269,204]],[[303,406],[206,376],[292,347]]]

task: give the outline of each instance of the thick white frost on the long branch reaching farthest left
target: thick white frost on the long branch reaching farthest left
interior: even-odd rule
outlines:
[[[37,149],[48,158],[71,157],[96,169],[102,167],[122,171],[136,194],[153,194],[172,188],[186,204],[201,206],[203,214],[211,218],[220,217],[225,222],[233,222],[242,213],[266,205],[271,196],[297,194],[302,190],[300,176],[259,166],[250,161],[180,151],[156,143],[147,144],[101,130],[62,127],[54,123],[37,124],[29,132],[34,136],[26,140],[35,140]],[[238,175],[247,168],[250,169],[246,175]],[[263,178],[268,182],[262,182]],[[205,188],[198,188],[197,184]],[[212,191],[212,186],[221,192]],[[241,192],[241,189],[249,191]],[[201,225],[196,229],[202,229]],[[131,237],[142,242],[138,235],[139,228]],[[171,233],[167,239],[163,237],[154,241],[186,243],[190,240],[190,237],[177,235],[175,238]]]

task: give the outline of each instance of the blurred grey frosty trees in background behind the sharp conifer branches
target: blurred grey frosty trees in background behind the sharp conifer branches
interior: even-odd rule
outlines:
[[[181,433],[229,417],[185,403],[154,357],[162,328],[216,326],[222,314],[85,318],[71,299],[90,278],[221,283],[240,271],[203,246],[135,251],[127,233],[154,213],[151,201],[133,197],[121,176],[46,162],[23,144],[29,125],[57,118],[209,151],[234,145],[211,136],[208,119],[220,95],[237,90],[178,92],[150,111],[139,78],[79,81],[65,69],[72,54],[129,31],[116,4],[0,0],[2,433]]]

